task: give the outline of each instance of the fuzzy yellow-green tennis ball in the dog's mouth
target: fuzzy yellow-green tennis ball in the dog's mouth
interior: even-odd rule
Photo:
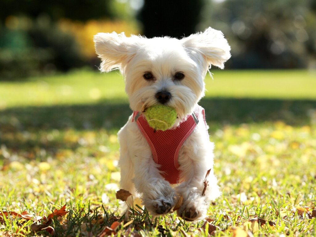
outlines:
[[[165,131],[176,121],[177,112],[172,107],[159,104],[148,107],[145,111],[145,118],[153,129]]]

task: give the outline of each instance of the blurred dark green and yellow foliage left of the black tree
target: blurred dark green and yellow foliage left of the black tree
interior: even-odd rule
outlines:
[[[115,0],[2,1],[0,80],[99,64],[93,35],[114,30],[137,34],[132,13],[128,3]]]

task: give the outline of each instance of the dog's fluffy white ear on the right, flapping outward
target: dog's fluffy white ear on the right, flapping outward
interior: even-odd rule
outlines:
[[[202,54],[209,68],[212,64],[223,69],[224,63],[230,58],[230,46],[223,33],[211,27],[204,32],[191,34],[181,41],[185,48]]]

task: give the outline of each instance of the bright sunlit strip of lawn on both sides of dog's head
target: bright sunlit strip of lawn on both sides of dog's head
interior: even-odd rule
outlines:
[[[303,70],[214,70],[205,79],[206,97],[258,99],[316,99],[316,72]],[[0,109],[17,106],[92,104],[124,100],[124,80],[119,72],[77,70],[58,76],[1,82]]]

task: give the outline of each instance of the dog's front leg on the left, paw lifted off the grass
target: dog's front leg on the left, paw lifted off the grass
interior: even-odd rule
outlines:
[[[143,155],[134,158],[135,187],[142,193],[143,204],[151,215],[166,214],[175,205],[176,193],[160,175],[151,153]]]

